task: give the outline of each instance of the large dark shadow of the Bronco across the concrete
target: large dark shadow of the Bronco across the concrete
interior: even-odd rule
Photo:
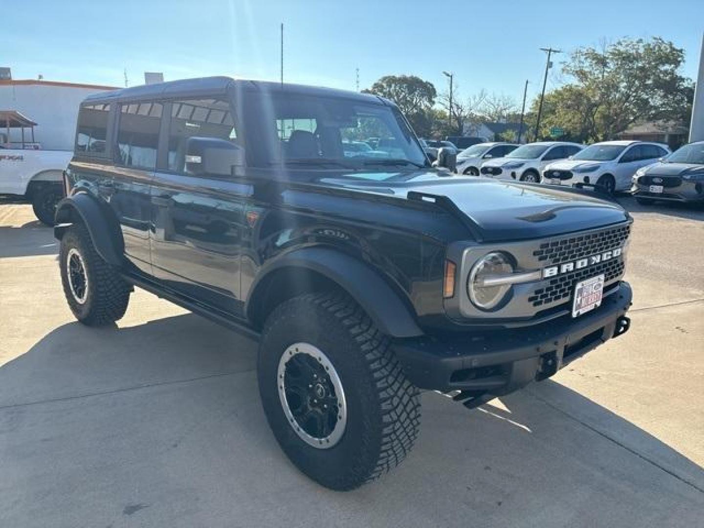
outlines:
[[[0,524],[700,522],[697,465],[549,380],[472,411],[424,393],[401,467],[346,494],[322,489],[268,430],[255,367],[253,341],[191,314],[54,329],[0,367]]]

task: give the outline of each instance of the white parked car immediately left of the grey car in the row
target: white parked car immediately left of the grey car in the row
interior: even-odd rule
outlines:
[[[636,170],[670,154],[660,143],[612,141],[595,143],[572,158],[555,161],[543,170],[543,183],[598,184],[605,191],[627,191]]]

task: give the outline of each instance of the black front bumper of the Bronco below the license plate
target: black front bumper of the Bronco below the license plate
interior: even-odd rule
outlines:
[[[535,327],[394,341],[406,376],[420,389],[502,396],[560,367],[629,329],[631,287],[604,298],[591,313]],[[490,399],[490,398],[489,398]]]

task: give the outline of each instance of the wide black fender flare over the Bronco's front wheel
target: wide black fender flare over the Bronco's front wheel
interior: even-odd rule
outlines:
[[[252,285],[245,311],[250,315],[252,304],[258,302],[258,287],[272,273],[283,268],[304,268],[344,289],[369,315],[375,325],[390,337],[417,337],[424,334],[418,327],[413,309],[403,301],[379,272],[358,258],[329,248],[297,249],[265,265]]]

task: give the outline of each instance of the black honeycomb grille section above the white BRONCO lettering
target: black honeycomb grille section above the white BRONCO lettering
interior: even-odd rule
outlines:
[[[631,226],[624,225],[596,233],[543,242],[539,249],[533,251],[533,256],[549,265],[570,262],[618,248],[623,245],[630,232]]]

